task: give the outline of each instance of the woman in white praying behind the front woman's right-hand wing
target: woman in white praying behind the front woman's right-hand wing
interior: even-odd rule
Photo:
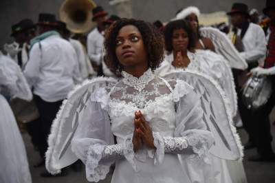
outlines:
[[[222,57],[210,51],[195,50],[195,39],[190,23],[184,20],[171,21],[164,30],[166,50],[170,52],[166,61],[175,68],[187,68],[206,74],[216,80],[219,87],[224,90],[226,98],[232,95],[232,80],[228,76],[230,69],[224,67]],[[233,85],[234,86],[234,85]],[[234,115],[234,100],[226,100],[230,104],[231,114]],[[241,147],[241,142],[238,142]],[[216,182],[246,182],[243,164],[222,160],[212,156],[212,165]],[[229,167],[228,167],[229,166]],[[234,167],[234,169],[232,168]]]

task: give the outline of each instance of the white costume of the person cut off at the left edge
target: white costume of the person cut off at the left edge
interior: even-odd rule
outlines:
[[[8,91],[12,97],[32,99],[20,67],[0,53],[0,182],[31,183],[30,169],[21,133],[10,105],[1,95]]]

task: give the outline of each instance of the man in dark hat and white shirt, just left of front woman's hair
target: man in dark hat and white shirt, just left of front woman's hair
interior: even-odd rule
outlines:
[[[102,53],[103,53],[103,42],[104,36],[102,33],[104,32],[103,22],[106,20],[107,12],[103,10],[101,6],[97,6],[92,10],[93,19],[96,23],[96,28],[92,30],[87,37],[87,52],[93,67],[98,72],[98,76],[102,76]]]

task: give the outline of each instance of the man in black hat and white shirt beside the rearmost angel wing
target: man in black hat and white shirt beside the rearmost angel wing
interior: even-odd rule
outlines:
[[[236,82],[236,92],[238,94],[238,107],[241,115],[241,119],[243,121],[243,127],[245,131],[248,132],[249,140],[248,143],[245,144],[245,149],[250,149],[255,146],[256,140],[254,139],[253,127],[251,111],[243,105],[243,101],[241,100],[241,87],[245,82],[241,82],[240,80],[245,80],[247,78],[246,74],[253,67],[256,67],[259,62],[265,57],[266,52],[266,41],[265,41],[265,33],[263,29],[256,25],[255,23],[251,23],[249,21],[250,14],[248,13],[248,6],[244,3],[234,3],[232,5],[232,9],[227,13],[230,16],[230,21],[233,25],[233,32],[236,37],[239,37],[241,40],[242,47],[237,48],[239,50],[240,55],[245,59],[248,63],[248,71],[233,71],[234,78]],[[236,46],[236,45],[235,45]]]

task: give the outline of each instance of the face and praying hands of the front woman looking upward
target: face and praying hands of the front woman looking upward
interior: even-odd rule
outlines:
[[[134,25],[125,25],[118,32],[115,54],[125,72],[139,78],[148,69],[146,48],[142,34]],[[155,149],[151,127],[141,111],[135,111],[133,150],[137,152],[143,145]]]

